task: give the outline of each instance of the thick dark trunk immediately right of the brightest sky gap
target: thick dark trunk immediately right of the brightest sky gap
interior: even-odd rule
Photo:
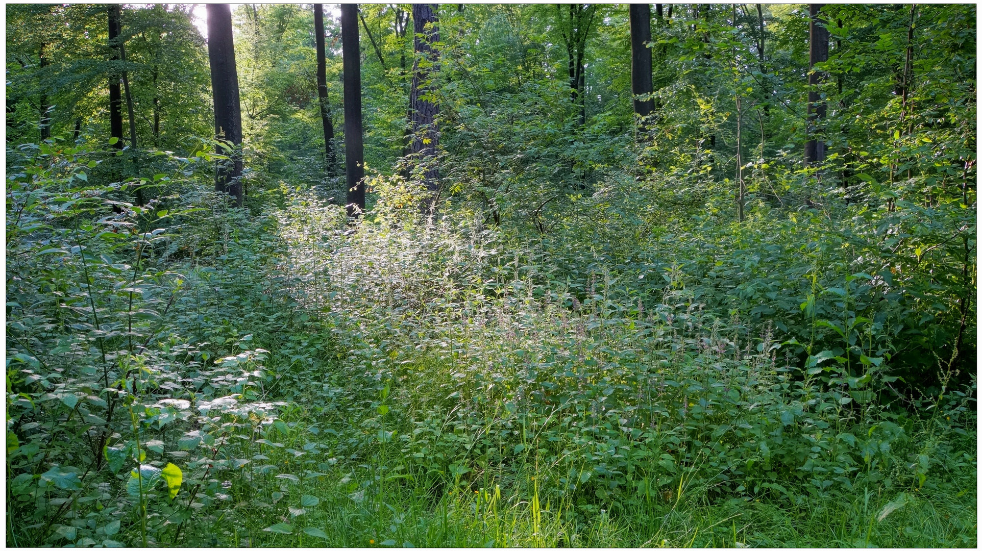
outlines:
[[[215,191],[226,192],[242,206],[243,142],[242,112],[239,105],[239,77],[232,41],[232,10],[228,4],[208,4],[208,62],[211,66],[211,93],[215,101],[215,138],[231,145],[216,151],[231,157],[219,161],[215,170]]]

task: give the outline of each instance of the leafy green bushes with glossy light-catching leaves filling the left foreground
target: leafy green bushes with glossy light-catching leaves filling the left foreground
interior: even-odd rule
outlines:
[[[189,276],[166,261],[180,220],[202,210],[172,193],[211,159],[156,156],[169,173],[102,183],[114,152],[57,139],[8,150],[11,544],[176,541],[223,499],[216,476],[242,467],[232,439],[275,420],[278,404],[257,400],[265,351],[244,338],[210,361],[207,343],[172,331]],[[136,189],[156,197],[125,200]]]

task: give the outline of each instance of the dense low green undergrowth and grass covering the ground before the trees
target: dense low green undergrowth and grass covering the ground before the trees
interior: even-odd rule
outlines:
[[[837,350],[678,262],[101,155],[8,151],[9,545],[976,544],[974,377],[898,392],[872,276],[810,280]]]

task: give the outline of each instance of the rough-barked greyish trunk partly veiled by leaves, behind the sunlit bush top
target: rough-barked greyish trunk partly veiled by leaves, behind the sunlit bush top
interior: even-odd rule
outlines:
[[[437,4],[412,5],[412,30],[415,34],[413,49],[415,61],[412,66],[412,86],[409,89],[410,128],[412,142],[409,152],[417,162],[429,159],[429,168],[424,174],[426,189],[431,196],[424,201],[422,208],[432,210],[436,204],[435,193],[438,190],[439,172],[435,166],[436,148],[439,140],[439,129],[436,124],[438,112],[432,100],[433,76],[437,69],[440,52],[433,47],[433,42],[440,41],[440,30],[437,28]],[[427,65],[423,67],[422,65]]]

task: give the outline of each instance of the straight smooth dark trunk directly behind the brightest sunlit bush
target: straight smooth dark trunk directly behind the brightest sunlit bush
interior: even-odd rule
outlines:
[[[348,216],[365,209],[364,147],[361,142],[361,52],[358,46],[358,6],[341,5],[341,49],[345,72],[345,172],[348,176]]]

